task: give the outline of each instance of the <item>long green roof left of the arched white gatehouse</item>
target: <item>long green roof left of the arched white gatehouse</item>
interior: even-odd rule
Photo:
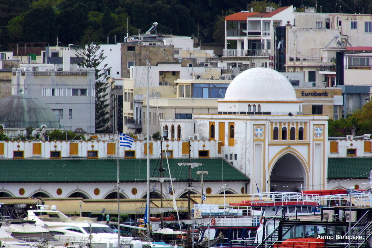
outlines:
[[[188,166],[177,162],[186,159],[169,159],[171,176],[177,181],[186,181]],[[200,181],[197,171],[208,171],[204,181],[249,181],[249,178],[222,158],[192,159],[201,166],[191,169],[194,181]],[[150,177],[160,177],[160,160],[150,160]],[[163,168],[167,169],[166,160]],[[116,182],[116,159],[1,159],[0,181],[6,182]],[[168,170],[163,177],[169,177]],[[119,180],[135,182],[146,180],[145,159],[119,159]]]

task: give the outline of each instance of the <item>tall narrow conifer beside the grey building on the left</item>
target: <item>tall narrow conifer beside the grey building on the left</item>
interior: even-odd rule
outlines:
[[[108,81],[109,75],[107,71],[111,68],[106,68],[108,64],[103,65],[100,69],[98,68],[103,59],[103,51],[100,49],[100,45],[97,45],[96,41],[99,40],[99,36],[94,32],[92,27],[88,27],[84,31],[84,35],[81,38],[81,48],[75,49],[78,57],[82,60],[78,63],[79,67],[95,68],[95,100],[96,100],[96,132],[105,133],[111,132],[108,123],[110,121],[110,115],[107,111],[109,107],[109,89],[113,82]]]

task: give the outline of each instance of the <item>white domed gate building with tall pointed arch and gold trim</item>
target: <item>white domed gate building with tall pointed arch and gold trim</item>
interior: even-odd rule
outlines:
[[[217,114],[194,114],[195,125],[180,129],[218,141],[218,153],[250,178],[244,193],[326,189],[328,116],[301,110],[286,77],[252,68],[232,80]],[[182,125],[163,126],[173,124]]]

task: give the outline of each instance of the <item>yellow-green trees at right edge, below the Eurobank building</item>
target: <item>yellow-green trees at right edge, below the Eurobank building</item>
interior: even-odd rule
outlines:
[[[372,102],[366,103],[346,119],[328,120],[328,136],[360,136],[365,133],[372,133]]]

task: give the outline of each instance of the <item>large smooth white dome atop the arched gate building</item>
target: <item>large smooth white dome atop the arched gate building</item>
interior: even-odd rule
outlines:
[[[297,101],[295,90],[278,71],[256,67],[243,71],[231,81],[225,100]]]

